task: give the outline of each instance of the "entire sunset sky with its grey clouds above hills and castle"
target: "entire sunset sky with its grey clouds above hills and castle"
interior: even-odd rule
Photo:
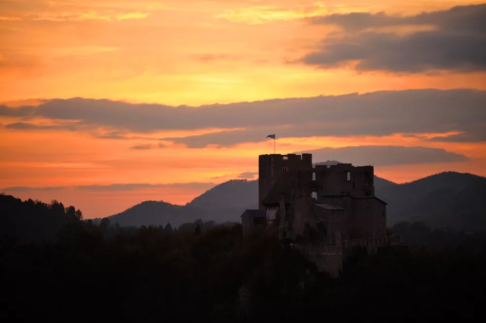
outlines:
[[[0,191],[104,217],[258,155],[486,176],[486,4],[3,0]]]

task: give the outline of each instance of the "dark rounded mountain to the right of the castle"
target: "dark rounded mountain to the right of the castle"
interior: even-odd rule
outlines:
[[[486,230],[486,178],[444,172],[404,184],[375,177],[375,195],[388,203],[388,224],[423,221],[432,227]]]

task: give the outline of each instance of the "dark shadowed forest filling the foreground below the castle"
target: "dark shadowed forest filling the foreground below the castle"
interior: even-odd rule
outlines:
[[[275,237],[243,240],[239,224],[127,228],[78,218],[68,226],[55,242],[0,242],[10,322],[440,319],[482,309],[485,248],[465,248],[469,241],[356,249],[333,279]]]

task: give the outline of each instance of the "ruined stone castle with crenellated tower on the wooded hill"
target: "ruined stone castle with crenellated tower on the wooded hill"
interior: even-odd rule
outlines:
[[[338,275],[354,246],[376,251],[387,234],[386,203],[375,196],[373,166],[312,165],[312,154],[259,156],[259,210],[242,214],[243,237],[278,231],[317,268]]]

